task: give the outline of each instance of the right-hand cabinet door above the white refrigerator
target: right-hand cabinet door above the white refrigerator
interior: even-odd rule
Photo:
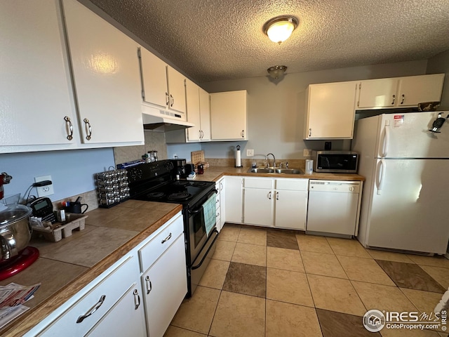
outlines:
[[[444,74],[402,77],[399,80],[398,106],[416,107],[418,103],[439,102]]]

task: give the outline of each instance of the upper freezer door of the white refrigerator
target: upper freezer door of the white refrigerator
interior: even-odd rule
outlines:
[[[441,133],[431,133],[436,118],[438,112],[382,114],[376,157],[449,158],[449,123]]]

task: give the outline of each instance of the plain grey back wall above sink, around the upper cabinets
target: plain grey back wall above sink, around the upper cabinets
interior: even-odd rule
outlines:
[[[254,149],[256,155],[273,152],[280,159],[302,159],[304,148],[324,147],[323,140],[302,139],[304,92],[309,84],[420,75],[426,73],[426,67],[427,61],[421,60],[295,74],[287,70],[279,82],[267,76],[202,83],[210,93],[248,91],[249,140],[201,143],[201,148],[212,158],[232,158],[233,149],[241,145],[242,158],[246,158],[246,149]],[[349,149],[350,144],[349,140],[332,141],[333,150]]]

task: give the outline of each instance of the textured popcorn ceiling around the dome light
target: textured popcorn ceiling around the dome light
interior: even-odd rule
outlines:
[[[408,60],[449,50],[449,0],[89,0],[198,82]],[[264,22],[295,15],[274,44]]]

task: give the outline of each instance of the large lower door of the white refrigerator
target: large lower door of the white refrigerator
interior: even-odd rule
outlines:
[[[445,253],[449,241],[447,172],[448,159],[377,160],[373,192],[362,196],[372,198],[370,204],[362,204],[362,208],[370,207],[366,244]]]

